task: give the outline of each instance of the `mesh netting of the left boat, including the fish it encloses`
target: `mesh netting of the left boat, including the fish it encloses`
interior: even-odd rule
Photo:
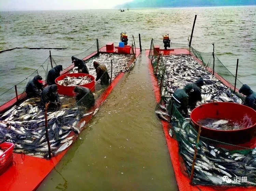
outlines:
[[[74,56],[84,59],[90,75],[95,77],[96,71],[93,67],[93,62],[97,61],[100,64],[104,64],[107,68],[104,74],[106,72],[109,74],[109,82],[111,83],[117,75],[132,69],[135,62],[134,46],[133,44],[131,45],[132,54],[117,54],[101,52],[103,48],[99,47],[102,45],[105,46],[104,43],[97,41],[86,51]],[[98,107],[100,103],[97,105],[95,103],[108,86],[100,84],[104,74],[87,93],[80,95],[81,99],[75,99],[74,96],[59,95],[60,106],[53,104],[53,108],[48,108],[46,114],[45,109],[40,105],[39,97],[26,99],[26,94],[24,93],[24,87],[30,77],[32,78],[39,74],[45,80],[48,70],[52,66],[62,65],[64,75],[77,73],[78,71],[73,68],[73,65],[69,67],[71,64],[71,55],[51,55],[39,69],[35,70],[26,80],[16,85],[18,101],[16,93],[10,93],[13,91],[11,89],[1,95],[7,97],[6,95],[11,94],[8,98],[14,98],[14,101],[9,103],[11,107],[7,111],[5,109],[0,114],[0,142],[14,143],[13,151],[15,153],[49,158],[49,153],[51,156],[56,156],[77,139],[77,136],[85,128],[90,118],[98,111],[96,106]],[[22,93],[22,96],[19,95],[20,93]],[[3,105],[1,108],[6,107]],[[50,146],[50,151],[48,145]]]

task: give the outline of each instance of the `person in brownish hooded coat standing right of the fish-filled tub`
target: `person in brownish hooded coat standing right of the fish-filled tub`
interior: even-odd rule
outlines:
[[[103,64],[99,64],[98,62],[94,61],[93,66],[96,69],[97,77],[95,81],[98,81],[100,79],[101,85],[109,85],[109,73],[108,69],[106,69],[106,66]]]

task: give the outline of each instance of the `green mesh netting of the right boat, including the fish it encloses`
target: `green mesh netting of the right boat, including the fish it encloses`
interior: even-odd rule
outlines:
[[[196,57],[203,60],[203,66],[199,66],[200,64],[195,62],[190,55],[161,55],[155,50],[155,44],[156,41],[152,39],[148,57],[151,59],[153,72],[158,80],[161,94],[161,99],[156,106],[156,114],[162,120],[171,121],[169,134],[178,142],[181,172],[189,181],[195,150],[197,150],[192,179],[194,185],[211,185],[216,190],[225,190],[230,186],[256,186],[255,148],[240,147],[202,136],[199,137],[197,142],[198,132],[193,128],[190,118],[172,105],[173,98],[171,95],[177,88],[182,88],[187,83],[194,82],[202,77],[205,86],[212,88],[212,90],[216,88],[216,92],[221,92],[221,94],[211,92],[213,95],[216,93],[216,95],[208,97],[209,93],[202,88],[202,101],[198,102],[199,105],[212,101],[241,103],[242,97],[239,97],[238,94],[235,94],[214,77],[207,77],[211,75],[207,70],[211,66],[210,57],[204,56],[203,53],[191,48]],[[221,62],[218,64],[221,64]],[[205,69],[205,67],[207,68]],[[219,72],[219,75],[221,74]],[[225,100],[226,98],[228,100]],[[188,112],[191,112],[191,110],[188,110]]]

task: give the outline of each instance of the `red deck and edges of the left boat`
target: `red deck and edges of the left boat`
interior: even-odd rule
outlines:
[[[104,51],[105,48],[102,47],[100,51]],[[97,52],[94,52],[83,60],[90,59],[93,57]],[[114,53],[108,52],[108,53]],[[140,54],[140,49],[136,48],[136,58]],[[130,65],[134,60],[130,60],[128,64]],[[69,66],[68,68],[62,71],[62,74],[67,73],[69,69],[73,67]],[[99,108],[102,102],[106,99],[118,81],[125,75],[125,73],[121,72],[116,78],[112,81],[112,83],[102,92],[100,97],[95,101],[95,105],[89,109],[88,112],[94,111],[95,109]],[[24,96],[22,94],[19,95],[20,97]],[[12,99],[9,102],[6,102],[5,109],[13,105],[16,101],[16,98]],[[4,108],[2,108],[4,109]],[[81,121],[85,121],[86,124],[90,120],[93,114],[88,115],[81,119]],[[52,157],[51,159],[41,159],[37,157],[32,157],[28,155],[16,154],[13,153],[13,165],[2,175],[0,175],[0,190],[1,191],[33,191],[38,188],[41,184],[43,179],[51,172],[54,166],[61,160],[61,158],[65,155],[68,147],[66,150],[63,150],[57,156]]]

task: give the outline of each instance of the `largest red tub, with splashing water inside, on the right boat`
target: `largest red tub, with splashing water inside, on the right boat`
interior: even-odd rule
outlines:
[[[252,108],[232,102],[212,102],[196,107],[191,112],[190,117],[192,124],[198,131],[198,120],[204,118],[218,118],[240,123],[243,121],[245,114],[251,118],[253,124],[248,128],[238,130],[215,130],[204,126],[201,127],[200,136],[238,145],[249,142],[256,136],[256,111]]]

